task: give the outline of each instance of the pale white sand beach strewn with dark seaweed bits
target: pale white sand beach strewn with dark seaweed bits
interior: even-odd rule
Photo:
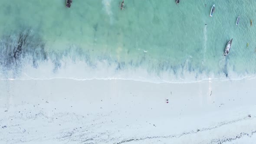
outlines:
[[[254,84],[1,80],[0,143],[253,144]]]

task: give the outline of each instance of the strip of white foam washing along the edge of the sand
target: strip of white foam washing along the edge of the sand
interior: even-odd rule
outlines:
[[[211,81],[228,81],[228,80],[240,80],[240,79],[254,79],[255,75],[243,76],[237,75],[236,72],[230,72],[230,79],[227,79],[224,74],[216,75],[214,73],[202,72],[197,73],[190,72],[189,60],[187,59],[184,66],[174,71],[158,71],[155,70],[149,72],[142,67],[134,67],[125,65],[124,68],[117,69],[117,65],[112,63],[109,65],[107,60],[96,62],[96,66],[92,67],[86,62],[81,60],[73,60],[72,58],[66,58],[62,60],[61,67],[53,72],[55,64],[51,59],[45,62],[41,62],[37,69],[26,63],[26,66],[21,70],[19,76],[13,77],[13,71],[10,71],[6,75],[1,75],[1,79],[8,80],[50,80],[50,79],[74,79],[78,81],[92,80],[92,79],[124,79],[134,80],[142,82],[153,83],[194,83],[194,82],[208,82]],[[24,64],[25,65],[25,64]],[[196,77],[197,76],[197,77]]]

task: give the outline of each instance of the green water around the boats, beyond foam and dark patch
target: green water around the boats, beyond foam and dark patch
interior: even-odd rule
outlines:
[[[142,68],[158,75],[189,72],[218,78],[227,72],[256,72],[253,0],[125,0],[125,10],[118,8],[118,0],[73,0],[71,8],[65,4],[66,0],[3,1],[0,34],[31,29],[46,43],[47,52],[62,55],[66,49],[81,48],[91,61],[122,62],[123,69]],[[223,57],[232,38],[230,53]]]

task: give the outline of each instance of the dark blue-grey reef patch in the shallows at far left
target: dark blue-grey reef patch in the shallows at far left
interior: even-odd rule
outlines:
[[[45,44],[40,37],[36,37],[30,32],[29,29],[18,35],[1,38],[0,68],[3,72],[10,70],[19,72],[24,67],[24,61],[30,62],[34,68],[37,68],[39,61],[47,60]]]

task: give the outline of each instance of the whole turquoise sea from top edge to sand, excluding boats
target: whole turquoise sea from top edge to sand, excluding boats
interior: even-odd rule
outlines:
[[[118,0],[73,0],[71,8],[66,8],[65,2],[2,2],[2,78],[20,78],[28,65],[36,71],[45,69],[42,65],[46,64],[51,65],[42,74],[47,78],[60,74],[67,78],[190,82],[256,74],[253,0],[181,0],[178,5],[175,0],[125,0],[126,10],[118,8]],[[213,4],[216,10],[210,17]],[[238,15],[241,19],[236,26]],[[22,50],[13,50],[19,45],[19,34],[27,32]],[[224,57],[223,50],[232,38],[231,50]],[[84,72],[76,75],[77,71]]]

